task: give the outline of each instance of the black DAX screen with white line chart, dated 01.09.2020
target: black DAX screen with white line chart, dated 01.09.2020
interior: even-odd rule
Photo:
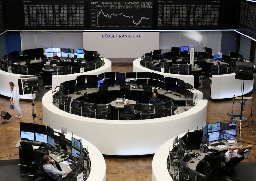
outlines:
[[[91,1],[92,29],[152,28],[153,1]]]

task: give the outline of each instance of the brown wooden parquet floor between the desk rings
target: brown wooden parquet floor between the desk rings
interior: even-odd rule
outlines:
[[[113,72],[132,72],[132,66],[112,66]],[[255,84],[256,81],[254,81]],[[3,85],[1,85],[3,86]],[[8,86],[8,85],[6,85]],[[254,85],[255,87],[255,85]],[[240,88],[238,88],[240,89]],[[246,96],[256,97],[256,91],[253,90]],[[18,119],[16,110],[9,108],[9,97],[0,96],[0,111],[7,111],[12,115],[12,118],[8,120],[8,124],[0,124],[0,160],[6,159],[18,159],[18,149],[15,148],[15,144],[20,138],[19,122],[33,122],[32,119],[32,105],[31,101],[20,101],[20,108],[23,117]],[[220,122],[223,119],[230,118],[227,112],[232,109],[232,99],[208,101],[207,111],[207,124],[211,122]],[[243,117],[248,118],[251,113],[252,99],[245,102],[246,110],[243,112]],[[255,119],[256,124],[256,101],[253,101],[252,117]],[[240,112],[241,106],[237,100],[234,101],[234,111]],[[35,113],[39,118],[42,118],[42,103],[35,102]],[[251,119],[250,119],[251,120]],[[43,124],[43,119],[35,121],[38,124]],[[246,123],[256,130],[255,125],[252,122],[246,121]],[[242,122],[242,126],[246,125]],[[241,138],[247,143],[256,143],[256,135],[252,134],[252,130],[249,127],[241,129]],[[239,140],[239,139],[238,139]],[[247,145],[247,143],[241,143]],[[254,146],[254,145],[253,145]],[[249,154],[249,158],[243,162],[256,162],[255,146]],[[152,180],[152,159],[153,156],[144,157],[129,157],[129,158],[105,158],[106,161],[106,180],[107,181],[151,181]]]

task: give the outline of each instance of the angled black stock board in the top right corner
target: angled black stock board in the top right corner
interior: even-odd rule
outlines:
[[[256,38],[256,2],[241,2],[238,30]]]

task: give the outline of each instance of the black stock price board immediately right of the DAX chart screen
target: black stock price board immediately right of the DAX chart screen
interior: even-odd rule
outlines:
[[[220,0],[157,1],[157,27],[172,29],[220,28]]]

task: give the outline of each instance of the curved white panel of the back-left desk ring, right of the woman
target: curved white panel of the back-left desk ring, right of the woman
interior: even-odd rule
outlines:
[[[98,74],[101,74],[101,73],[104,73],[104,72],[111,72],[111,71],[112,71],[111,61],[104,58],[104,65],[100,68],[95,69],[95,70],[82,72],[82,73],[76,73],[76,74],[53,75],[52,76],[52,88],[54,89],[54,87],[59,86],[60,83],[63,83],[65,81],[74,80],[79,75],[86,75],[86,74],[98,75]]]

